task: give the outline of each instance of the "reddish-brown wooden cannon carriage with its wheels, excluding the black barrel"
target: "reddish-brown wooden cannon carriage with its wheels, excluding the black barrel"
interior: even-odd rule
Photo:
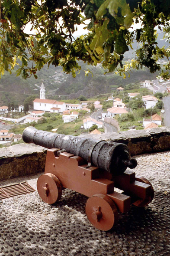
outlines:
[[[125,213],[131,204],[144,207],[154,198],[150,182],[135,176],[134,171],[112,176],[99,167],[87,167],[87,161],[79,156],[59,152],[58,148],[48,149],[45,174],[37,181],[38,194],[49,204],[61,199],[64,188],[86,195],[89,197],[85,206],[87,217],[99,230],[113,227],[118,220],[118,210]],[[122,190],[121,193],[115,188]]]

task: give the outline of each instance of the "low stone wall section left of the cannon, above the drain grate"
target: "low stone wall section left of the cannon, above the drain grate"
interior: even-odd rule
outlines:
[[[0,181],[44,171],[46,151],[35,144],[0,148]]]

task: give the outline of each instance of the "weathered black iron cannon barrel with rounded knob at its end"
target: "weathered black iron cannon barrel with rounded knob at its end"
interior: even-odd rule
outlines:
[[[132,169],[137,165],[137,161],[130,158],[128,147],[122,143],[56,134],[32,126],[23,131],[22,138],[26,143],[45,148],[65,149],[113,175],[120,175],[127,167]]]

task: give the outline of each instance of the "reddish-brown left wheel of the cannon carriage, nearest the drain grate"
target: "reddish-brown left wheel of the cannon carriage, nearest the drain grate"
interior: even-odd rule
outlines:
[[[61,199],[62,186],[54,174],[42,174],[37,181],[37,190],[45,203],[53,204]]]

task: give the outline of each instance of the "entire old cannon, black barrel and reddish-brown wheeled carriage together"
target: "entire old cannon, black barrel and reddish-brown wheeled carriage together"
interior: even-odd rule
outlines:
[[[45,203],[61,199],[65,188],[87,197],[86,214],[99,230],[110,230],[119,214],[131,204],[147,206],[154,198],[154,189],[144,177],[136,176],[137,161],[130,158],[122,143],[92,138],[54,134],[27,127],[22,134],[26,143],[47,150],[45,173],[37,181],[39,196]]]

